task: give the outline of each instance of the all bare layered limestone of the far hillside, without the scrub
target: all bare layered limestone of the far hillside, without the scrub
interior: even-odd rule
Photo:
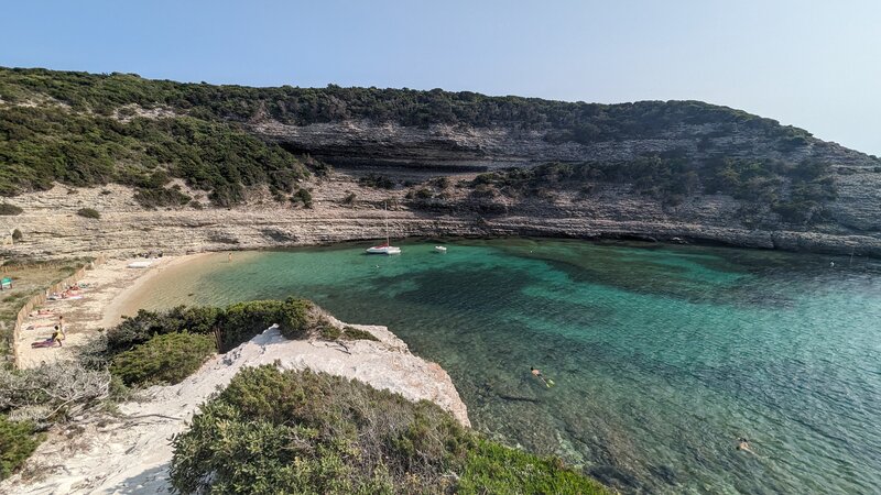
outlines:
[[[779,138],[724,124],[681,124],[652,139],[555,144],[544,130],[514,127],[403,127],[366,120],[289,125],[271,119],[248,123],[251,132],[296,152],[338,165],[329,177],[302,184],[312,190],[314,207],[303,209],[273,201],[265,190],[252,190],[243,206],[214,208],[205,193],[177,186],[203,207],[144,209],[132,190],[57,186],[25,194],[10,202],[24,209],[0,217],[3,250],[9,254],[68,256],[88,253],[132,255],[146,251],[182,253],[206,250],[261,249],[369,240],[384,237],[383,204],[391,235],[546,235],[584,239],[674,238],[737,246],[881,256],[881,163],[835,143],[808,139],[806,145],[781,148]],[[715,136],[715,138],[714,138]],[[466,183],[476,170],[529,166],[551,161],[627,161],[644,153],[676,151],[694,160],[711,153],[732,157],[768,157],[797,163],[815,158],[830,164],[837,198],[827,205],[831,218],[798,229],[765,218],[762,227],[744,224],[740,211],[749,204],[720,195],[695,195],[677,206],[663,205],[633,191],[629,184],[597,184],[589,196],[554,191],[550,198],[494,197],[481,204]],[[452,174],[445,199],[429,208],[406,199],[406,189],[361,187],[360,169],[384,167],[390,175],[411,174],[424,180]],[[460,184],[457,184],[460,183]],[[463,187],[459,187],[463,186]],[[355,194],[355,200],[344,198]],[[490,206],[491,208],[486,208]],[[76,215],[95,208],[98,220]],[[12,243],[18,229],[22,239]]]

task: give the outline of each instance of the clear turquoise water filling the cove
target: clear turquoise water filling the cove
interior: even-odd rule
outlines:
[[[393,257],[362,245],[218,256],[160,275],[145,307],[298,295],[387,324],[449,372],[476,428],[626,493],[878,493],[877,263],[557,240],[402,245]],[[739,436],[755,454],[735,449]]]

